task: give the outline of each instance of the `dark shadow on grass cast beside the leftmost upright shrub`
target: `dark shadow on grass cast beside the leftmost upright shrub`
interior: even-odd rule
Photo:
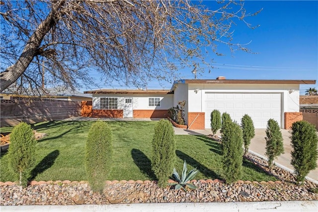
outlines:
[[[41,174],[45,170],[49,169],[55,162],[55,159],[59,156],[60,151],[54,150],[45,156],[38,165],[31,171],[29,181],[33,180],[38,174]]]

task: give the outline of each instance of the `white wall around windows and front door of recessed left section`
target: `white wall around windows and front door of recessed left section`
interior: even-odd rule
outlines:
[[[168,109],[173,106],[173,95],[158,95],[158,94],[139,94],[139,95],[125,95],[125,94],[93,94],[92,108],[100,109],[101,97],[117,97],[118,109],[123,109],[125,98],[133,98],[133,109]],[[160,106],[149,106],[149,98],[160,98]]]

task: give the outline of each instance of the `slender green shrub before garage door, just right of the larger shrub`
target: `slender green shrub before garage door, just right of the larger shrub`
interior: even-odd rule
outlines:
[[[255,128],[254,128],[253,120],[249,115],[247,114],[243,115],[241,119],[241,127],[243,132],[245,154],[247,154],[250,140],[255,136]]]

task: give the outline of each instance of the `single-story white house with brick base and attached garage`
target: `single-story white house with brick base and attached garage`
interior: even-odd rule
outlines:
[[[255,128],[266,128],[275,119],[281,128],[302,119],[299,85],[315,80],[178,80],[170,91],[97,90],[93,95],[92,117],[166,117],[167,109],[185,100],[185,122],[189,129],[210,128],[210,114],[228,112],[240,123],[251,116]]]

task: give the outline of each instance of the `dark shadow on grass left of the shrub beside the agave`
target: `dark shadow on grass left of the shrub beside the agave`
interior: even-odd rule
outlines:
[[[151,161],[142,151],[139,149],[132,149],[131,156],[142,173],[148,175],[151,180],[157,179],[155,173],[151,169]]]

